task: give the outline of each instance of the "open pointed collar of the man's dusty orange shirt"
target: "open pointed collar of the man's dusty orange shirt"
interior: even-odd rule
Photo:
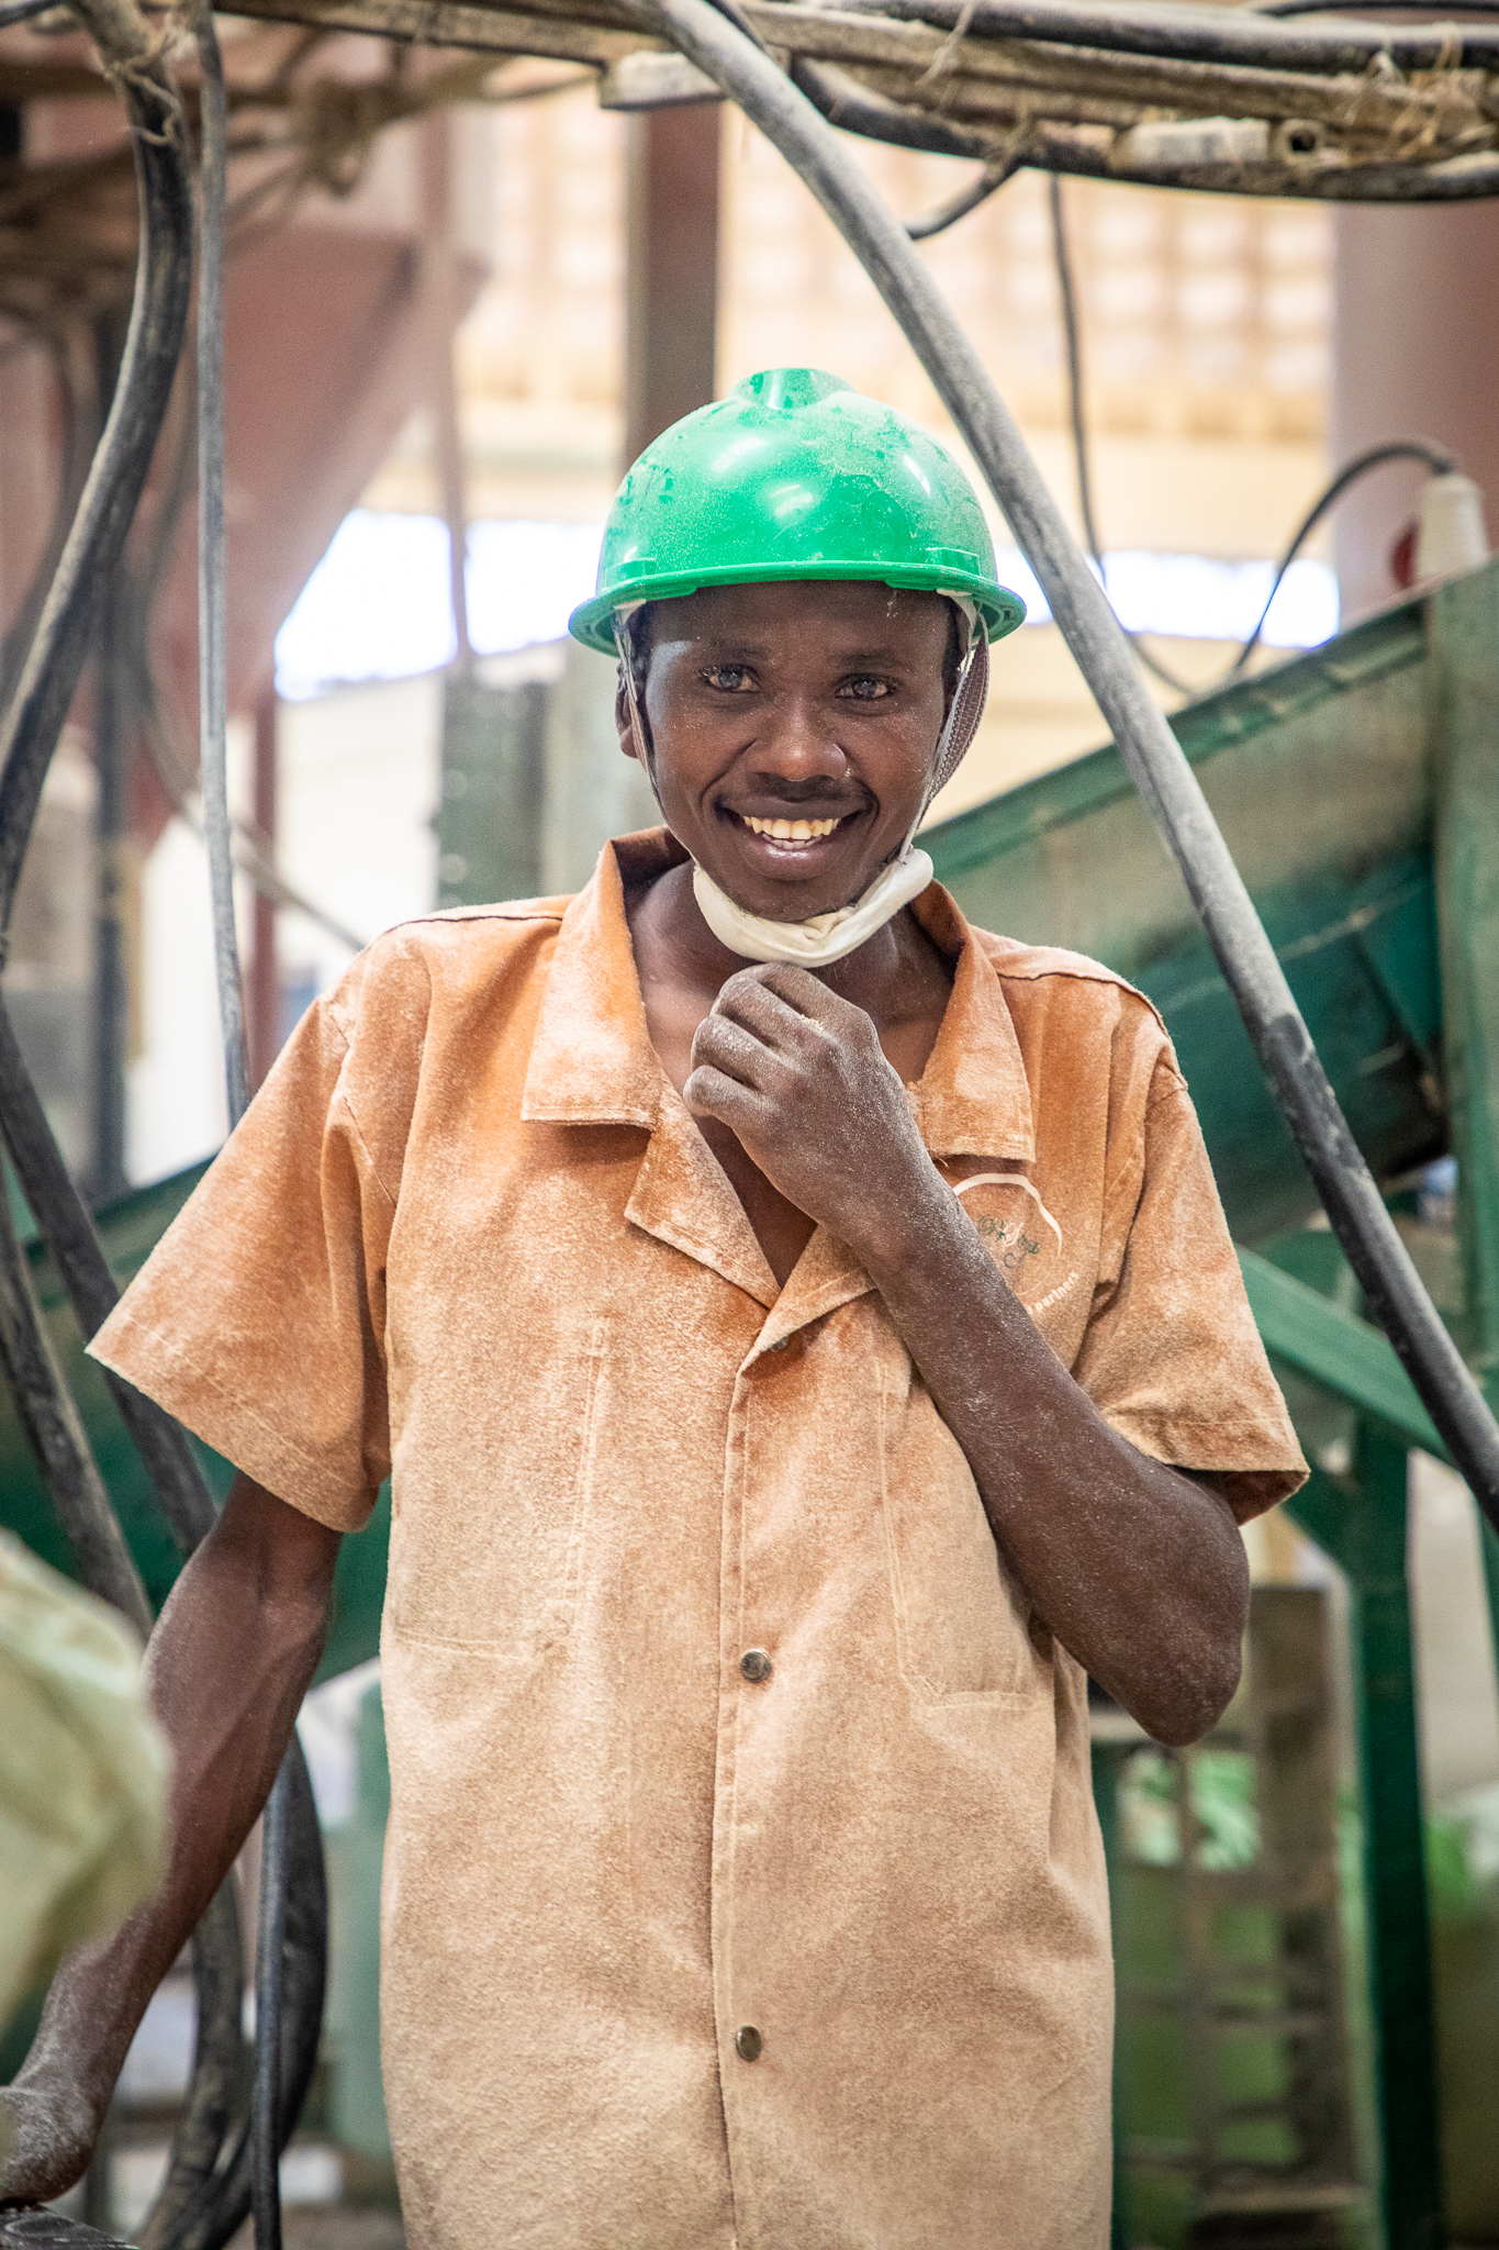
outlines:
[[[562,916],[530,1048],[521,1116],[557,1125],[654,1130],[672,1087],[645,1028],[625,882],[685,860],[665,828],[605,844],[593,880]],[[912,914],[953,961],[953,997],[912,1105],[933,1156],[1036,1154],[1020,1042],[1000,976],[939,882]]]

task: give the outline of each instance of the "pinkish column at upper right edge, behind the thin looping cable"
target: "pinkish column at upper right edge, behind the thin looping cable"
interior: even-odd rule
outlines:
[[[1335,216],[1333,461],[1393,436],[1450,446],[1499,533],[1499,207],[1346,207]],[[1398,592],[1391,549],[1416,513],[1418,464],[1362,479],[1337,511],[1344,621]]]

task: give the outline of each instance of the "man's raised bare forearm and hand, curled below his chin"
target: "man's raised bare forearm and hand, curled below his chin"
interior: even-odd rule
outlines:
[[[861,1258],[1036,1613],[1160,1742],[1205,1735],[1238,1683],[1234,1516],[1072,1382],[937,1174],[863,1008],[805,970],[746,970],[692,1062],[690,1107]]]

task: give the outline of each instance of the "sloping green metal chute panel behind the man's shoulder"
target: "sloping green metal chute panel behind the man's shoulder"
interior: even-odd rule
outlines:
[[[1423,605],[1407,603],[1173,720],[1378,1177],[1447,1145],[1427,670]],[[1092,954],[1148,992],[1238,1240],[1315,1208],[1182,878],[1112,747],[924,842],[971,920]]]

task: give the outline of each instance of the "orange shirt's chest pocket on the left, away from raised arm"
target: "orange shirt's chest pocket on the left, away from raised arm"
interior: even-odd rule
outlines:
[[[600,1321],[530,1379],[490,1366],[483,1397],[463,1348],[425,1386],[396,1460],[387,1618],[402,1640],[533,1663],[569,1636],[605,1359]]]

